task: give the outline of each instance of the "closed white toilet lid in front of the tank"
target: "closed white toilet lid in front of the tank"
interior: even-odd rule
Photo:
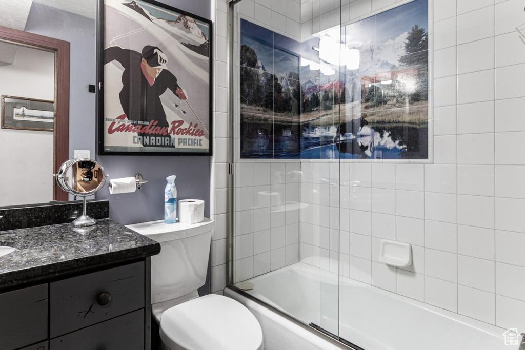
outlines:
[[[255,316],[236,300],[209,294],[167,309],[161,339],[170,348],[259,350],[262,330]]]

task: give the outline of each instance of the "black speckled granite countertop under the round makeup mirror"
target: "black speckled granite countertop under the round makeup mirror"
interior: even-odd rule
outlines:
[[[87,228],[71,224],[0,231],[17,250],[0,257],[0,291],[140,260],[160,244],[110,219]],[[1,245],[1,244],[0,244]]]

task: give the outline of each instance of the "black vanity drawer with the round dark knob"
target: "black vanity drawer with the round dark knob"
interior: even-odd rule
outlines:
[[[53,282],[49,285],[49,337],[79,330],[142,307],[143,261]]]

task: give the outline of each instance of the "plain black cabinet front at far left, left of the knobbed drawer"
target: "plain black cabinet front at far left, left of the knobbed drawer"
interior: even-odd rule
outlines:
[[[47,284],[0,294],[0,350],[47,339]]]

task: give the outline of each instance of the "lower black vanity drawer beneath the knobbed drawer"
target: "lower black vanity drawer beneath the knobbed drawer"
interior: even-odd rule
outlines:
[[[143,350],[144,309],[51,339],[49,349]]]

